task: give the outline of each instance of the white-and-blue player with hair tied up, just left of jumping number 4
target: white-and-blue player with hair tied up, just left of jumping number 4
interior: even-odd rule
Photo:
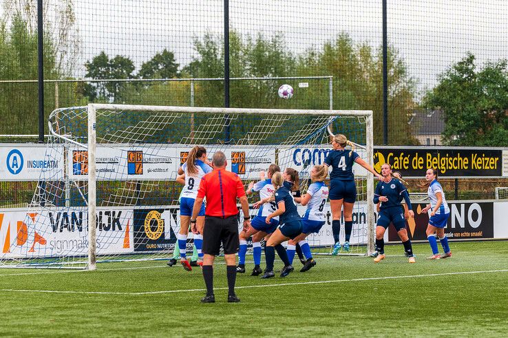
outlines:
[[[294,240],[288,242],[288,257],[289,263],[293,264],[293,257],[295,257],[295,246],[299,244],[301,251],[303,251],[306,262],[300,272],[308,271],[316,265],[312,253],[310,253],[310,246],[305,238],[310,233],[319,233],[321,227],[326,222],[326,215],[324,213],[324,206],[328,200],[328,187],[324,184],[324,180],[328,176],[328,167],[324,165],[315,165],[310,169],[310,179],[314,181],[307,189],[307,193],[301,198],[301,205],[306,205],[304,217],[301,219],[302,231]]]

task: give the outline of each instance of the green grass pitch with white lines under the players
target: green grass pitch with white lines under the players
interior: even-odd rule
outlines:
[[[447,260],[425,260],[429,246],[416,244],[416,264],[408,264],[399,244],[387,246],[379,264],[318,256],[306,273],[295,260],[286,278],[239,274],[238,304],[226,302],[222,257],[215,304],[200,303],[199,268],[162,261],[105,263],[97,271],[0,269],[0,335],[507,337],[508,242],[450,246]]]

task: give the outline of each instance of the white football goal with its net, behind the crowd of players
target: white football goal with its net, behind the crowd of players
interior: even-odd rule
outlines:
[[[210,158],[224,151],[227,169],[246,187],[276,163],[299,171],[305,193],[311,167],[331,149],[329,129],[356,142],[355,151],[372,165],[370,111],[91,104],[56,109],[49,126],[46,157],[63,165],[43,170],[25,221],[1,229],[7,240],[0,266],[94,269],[97,262],[168,259],[180,229],[182,186],[175,180],[194,145]],[[359,165],[354,170],[348,253],[366,254],[374,246],[374,182]],[[308,236],[315,248],[334,244],[329,203],[324,213],[320,233]]]

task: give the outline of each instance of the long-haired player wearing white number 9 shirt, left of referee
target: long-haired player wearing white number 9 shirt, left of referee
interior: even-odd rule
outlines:
[[[178,249],[180,249],[180,263],[187,271],[192,270],[191,264],[187,260],[186,252],[192,208],[194,207],[195,197],[198,196],[201,178],[211,171],[212,168],[207,158],[207,149],[198,145],[189,151],[187,161],[182,167],[178,168],[178,175],[183,175],[185,185],[182,189],[182,197],[180,198],[180,231],[176,235],[176,238],[178,240]],[[198,264],[202,265],[203,253],[201,248],[203,244],[204,204],[202,204],[196,224],[199,233],[194,234],[194,244],[198,251]]]

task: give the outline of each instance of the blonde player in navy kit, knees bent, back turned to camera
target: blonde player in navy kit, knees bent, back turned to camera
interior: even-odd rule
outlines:
[[[271,237],[266,242],[264,254],[266,258],[266,270],[262,278],[271,278],[275,276],[273,272],[273,262],[275,261],[275,246],[280,245],[282,242],[295,238],[301,233],[301,221],[298,214],[295,199],[291,196],[290,191],[284,187],[284,178],[282,174],[277,172],[272,176],[272,184],[275,188],[275,203],[277,210],[266,216],[266,224],[270,224],[271,219],[279,216],[279,226]],[[282,254],[282,255],[281,255]],[[280,273],[280,277],[286,277],[291,271],[293,266],[289,264],[288,255],[286,251],[279,252],[284,268]]]

